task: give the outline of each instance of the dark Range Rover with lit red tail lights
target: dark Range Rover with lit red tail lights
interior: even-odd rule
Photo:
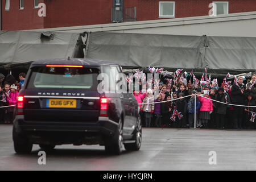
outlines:
[[[100,144],[115,155],[122,146],[139,150],[137,100],[132,93],[99,92],[105,79],[98,80],[101,73],[115,84],[126,80],[121,67],[106,60],[68,57],[31,63],[14,110],[15,152],[29,153],[33,144],[48,151],[61,144]],[[121,77],[116,81],[117,74]]]

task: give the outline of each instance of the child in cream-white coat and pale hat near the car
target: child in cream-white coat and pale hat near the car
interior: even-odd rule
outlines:
[[[146,127],[150,127],[152,113],[154,113],[154,96],[152,90],[147,89],[147,96],[143,99],[141,110],[144,112]]]

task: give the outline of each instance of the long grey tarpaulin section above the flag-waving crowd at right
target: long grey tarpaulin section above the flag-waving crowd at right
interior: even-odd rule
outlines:
[[[256,38],[90,32],[86,57],[124,69],[164,67],[235,75],[256,69]]]

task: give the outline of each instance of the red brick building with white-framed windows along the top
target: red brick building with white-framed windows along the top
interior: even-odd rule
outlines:
[[[39,3],[46,16],[38,16]],[[216,6],[209,6],[210,3]],[[255,0],[1,0],[1,30],[30,30],[256,11]]]

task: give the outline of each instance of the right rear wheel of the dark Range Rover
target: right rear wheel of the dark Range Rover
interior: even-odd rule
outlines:
[[[121,155],[123,147],[123,123],[120,119],[117,132],[110,138],[109,144],[105,145],[106,154]]]

